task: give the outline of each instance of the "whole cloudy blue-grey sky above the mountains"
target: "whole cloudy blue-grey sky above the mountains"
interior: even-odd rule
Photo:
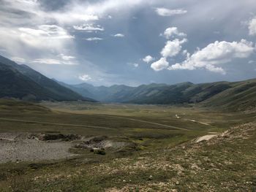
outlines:
[[[0,0],[0,55],[69,84],[256,77],[255,0]]]

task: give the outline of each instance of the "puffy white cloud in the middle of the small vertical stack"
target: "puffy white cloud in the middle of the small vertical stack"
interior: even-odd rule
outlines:
[[[162,49],[161,55],[164,58],[173,57],[178,55],[182,49],[182,44],[187,42],[187,39],[179,40],[174,39],[173,41],[167,41],[165,47]]]

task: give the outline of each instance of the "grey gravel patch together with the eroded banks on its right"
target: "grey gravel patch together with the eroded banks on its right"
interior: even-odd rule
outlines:
[[[0,163],[45,161],[73,158],[70,149],[103,153],[105,149],[134,146],[128,142],[113,142],[108,137],[84,138],[69,134],[0,133]]]

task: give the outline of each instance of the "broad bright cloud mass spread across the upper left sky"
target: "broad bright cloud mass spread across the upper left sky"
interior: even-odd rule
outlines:
[[[91,22],[106,18],[116,10],[127,10],[143,3],[143,0],[72,0],[61,9],[45,9],[42,6],[45,2],[38,0],[0,1],[1,47],[10,55],[30,60],[34,55],[54,58],[63,52],[75,53],[75,37],[69,33],[73,26],[87,31],[103,31],[103,27]]]

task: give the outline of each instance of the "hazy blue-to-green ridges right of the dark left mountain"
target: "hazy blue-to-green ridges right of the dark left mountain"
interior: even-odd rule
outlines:
[[[93,96],[103,102],[134,104],[184,104],[200,103],[207,106],[222,106],[234,110],[255,108],[256,80],[241,82],[209,82],[176,85],[150,84],[138,87],[113,85],[94,87],[88,83],[66,85],[83,96]]]

